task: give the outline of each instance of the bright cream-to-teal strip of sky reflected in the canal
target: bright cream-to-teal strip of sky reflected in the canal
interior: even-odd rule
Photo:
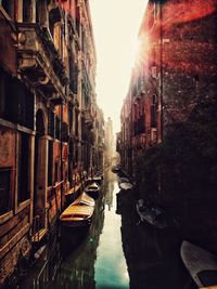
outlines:
[[[122,248],[120,216],[115,214],[114,194],[117,191],[117,183],[111,182],[106,189],[104,227],[97,251],[95,288],[129,288],[128,272]]]

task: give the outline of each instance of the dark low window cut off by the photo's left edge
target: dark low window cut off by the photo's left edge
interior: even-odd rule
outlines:
[[[0,168],[0,214],[12,209],[11,202],[11,168]]]

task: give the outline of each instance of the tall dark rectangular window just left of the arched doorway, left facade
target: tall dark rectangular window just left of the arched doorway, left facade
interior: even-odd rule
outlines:
[[[21,133],[18,142],[18,192],[17,201],[21,203],[30,198],[29,193],[29,135],[27,133]]]

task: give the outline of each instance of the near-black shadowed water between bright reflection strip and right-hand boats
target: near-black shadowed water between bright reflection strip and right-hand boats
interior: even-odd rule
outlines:
[[[164,231],[139,222],[136,192],[120,193],[122,236],[131,289],[191,289],[180,259],[181,237],[173,228]]]

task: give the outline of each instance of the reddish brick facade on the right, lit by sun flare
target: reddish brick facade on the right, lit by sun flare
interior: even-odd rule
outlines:
[[[118,147],[128,173],[136,157],[187,120],[200,100],[216,95],[216,21],[214,0],[149,1],[120,115]]]

